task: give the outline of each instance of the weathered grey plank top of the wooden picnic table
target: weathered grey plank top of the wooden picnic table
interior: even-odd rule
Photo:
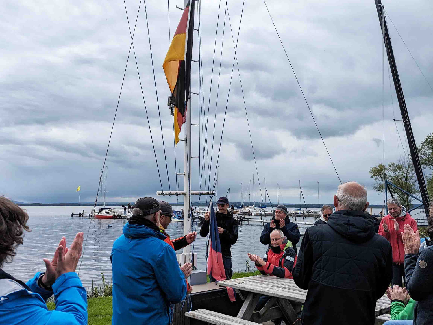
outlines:
[[[294,280],[281,279],[277,276],[255,275],[245,278],[218,281],[218,286],[259,293],[261,295],[288,299],[294,302],[305,302],[307,290],[300,289]],[[386,295],[376,302],[376,316],[389,313],[391,301]]]

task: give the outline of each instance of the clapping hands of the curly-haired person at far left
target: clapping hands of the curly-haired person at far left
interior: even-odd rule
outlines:
[[[84,233],[79,232],[69,248],[66,247],[66,237],[62,237],[55,250],[53,259],[50,261],[44,258],[46,270],[41,281],[45,287],[51,287],[62,274],[75,272],[81,257],[83,237]]]

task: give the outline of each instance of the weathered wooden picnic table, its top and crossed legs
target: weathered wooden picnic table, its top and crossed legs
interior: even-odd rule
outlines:
[[[297,319],[297,312],[301,311],[301,306],[307,297],[307,290],[300,289],[294,280],[281,279],[277,276],[255,275],[219,281],[216,284],[235,289],[238,296],[244,300],[237,317],[255,323],[283,317],[288,321],[287,324],[293,324]],[[272,298],[261,310],[255,311],[255,306],[262,295]],[[384,295],[376,302],[375,316],[390,311],[391,301]]]

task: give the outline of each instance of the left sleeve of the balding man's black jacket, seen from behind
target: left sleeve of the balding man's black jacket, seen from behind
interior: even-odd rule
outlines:
[[[313,245],[310,242],[310,231],[307,228],[302,239],[301,249],[293,271],[293,280],[301,289],[308,289],[313,269]]]

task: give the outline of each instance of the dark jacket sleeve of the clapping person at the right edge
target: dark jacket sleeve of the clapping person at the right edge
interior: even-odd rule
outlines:
[[[420,261],[422,266],[420,267]],[[415,254],[404,255],[404,275],[406,276],[406,289],[410,297],[416,301],[426,299],[433,292],[433,250],[424,248],[420,256]],[[427,267],[426,267],[427,266]]]

